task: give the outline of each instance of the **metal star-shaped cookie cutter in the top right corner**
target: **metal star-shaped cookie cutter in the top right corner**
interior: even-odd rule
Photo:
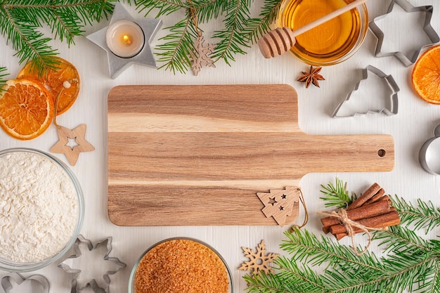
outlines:
[[[403,10],[406,11],[407,13],[413,13],[413,12],[424,12],[425,13],[425,23],[423,25],[423,31],[425,32],[425,34],[427,34],[427,36],[431,40],[431,44],[425,44],[425,45],[420,46],[420,48],[413,53],[413,56],[406,56],[401,51],[382,52],[382,44],[383,44],[385,36],[384,36],[384,33],[382,32],[382,30],[380,30],[380,28],[377,26],[376,22],[378,20],[382,20],[383,18],[386,18],[387,15],[393,11],[394,4],[401,6],[401,8],[403,8]],[[378,16],[377,18],[372,20],[369,24],[371,32],[373,32],[373,34],[375,34],[375,36],[377,38],[377,44],[376,44],[376,48],[375,48],[375,56],[376,57],[395,56],[397,59],[399,59],[401,61],[401,63],[404,66],[408,67],[410,65],[413,65],[415,63],[415,61],[417,60],[417,58],[420,54],[420,51],[422,51],[424,48],[432,46],[433,44],[440,41],[439,35],[436,33],[434,28],[431,26],[432,12],[433,12],[433,6],[427,5],[427,6],[414,7],[406,0],[392,0],[391,4],[389,5],[387,13],[385,13],[384,15]]]

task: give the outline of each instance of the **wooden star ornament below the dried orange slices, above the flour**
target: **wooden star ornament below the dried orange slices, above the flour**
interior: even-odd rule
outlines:
[[[58,154],[64,154],[67,161],[72,166],[77,164],[79,157],[79,152],[91,152],[95,150],[93,145],[86,141],[86,124],[81,124],[75,129],[67,129],[64,126],[57,126],[58,128],[58,139],[59,141],[53,145],[51,152],[56,152]],[[70,140],[75,140],[77,145],[70,146]]]

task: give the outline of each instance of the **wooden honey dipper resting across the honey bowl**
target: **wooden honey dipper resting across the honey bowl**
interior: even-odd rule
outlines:
[[[300,27],[298,30],[292,31],[290,27],[278,27],[275,30],[271,30],[271,32],[264,34],[264,36],[258,40],[259,49],[264,58],[280,56],[281,54],[287,52],[293,45],[295,45],[295,37],[299,36],[299,34],[304,34],[304,32],[307,32],[318,25],[322,25],[324,22],[328,22],[328,20],[336,18],[342,13],[350,11],[366,1],[367,0],[353,1],[350,4],[347,4],[346,6],[329,13],[328,15],[324,15],[322,18],[318,18],[317,20],[304,25],[304,27]]]

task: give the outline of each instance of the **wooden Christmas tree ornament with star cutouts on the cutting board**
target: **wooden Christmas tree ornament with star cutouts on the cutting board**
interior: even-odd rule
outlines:
[[[299,196],[301,190],[297,187],[287,187],[283,190],[270,190],[269,193],[257,193],[263,202],[263,214],[273,217],[276,223],[283,227],[295,221],[299,214]]]

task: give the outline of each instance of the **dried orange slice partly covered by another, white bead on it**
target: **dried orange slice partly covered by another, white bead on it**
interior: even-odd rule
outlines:
[[[48,70],[43,76],[39,76],[34,70],[32,61],[28,62],[25,67],[18,72],[17,78],[20,79],[38,79],[46,89],[51,93],[53,105],[56,103],[58,95],[58,107],[56,115],[63,114],[75,103],[79,93],[79,74],[72,63],[63,58],[56,58],[59,63],[56,70]]]

